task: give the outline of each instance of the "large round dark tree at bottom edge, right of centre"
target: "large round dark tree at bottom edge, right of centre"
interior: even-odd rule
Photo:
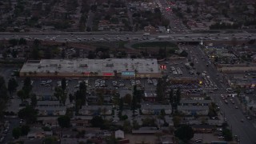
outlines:
[[[184,125],[175,130],[174,134],[183,142],[188,142],[191,138],[194,137],[194,130],[191,126]]]

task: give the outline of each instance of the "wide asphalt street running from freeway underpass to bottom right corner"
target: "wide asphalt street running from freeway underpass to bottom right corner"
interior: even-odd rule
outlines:
[[[228,94],[226,92],[226,84],[222,84],[218,81],[219,76],[218,70],[214,68],[214,65],[212,63],[209,63],[209,66],[206,66],[207,62],[207,57],[205,54],[203,54],[202,50],[200,49],[200,46],[195,46],[194,48],[190,49],[192,51],[192,54],[195,55],[198,59],[198,65],[196,66],[196,69],[198,71],[205,70],[208,75],[210,75],[211,81],[215,82],[216,85],[218,86],[218,90],[214,91],[213,94],[209,94],[210,97],[218,104],[220,107],[220,110],[223,112],[223,117],[226,117],[226,120],[230,126],[230,129],[232,130],[234,135],[238,135],[240,138],[240,143],[241,144],[249,144],[249,143],[254,143],[256,142],[256,137],[255,137],[255,127],[254,123],[251,120],[247,120],[246,116],[242,114],[242,105],[238,101],[238,98],[234,97],[234,104],[229,102],[226,104],[221,97],[221,94]],[[205,60],[203,60],[203,59]],[[228,101],[230,98],[228,99]],[[235,109],[235,106],[238,106],[238,109]],[[242,122],[242,120],[244,122]]]

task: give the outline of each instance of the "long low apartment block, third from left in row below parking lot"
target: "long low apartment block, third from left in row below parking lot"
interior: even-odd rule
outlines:
[[[164,110],[166,114],[171,114],[171,105],[142,105],[142,114],[159,115],[161,110]]]

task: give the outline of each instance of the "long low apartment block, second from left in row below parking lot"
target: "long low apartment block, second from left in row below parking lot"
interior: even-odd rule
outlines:
[[[112,106],[82,106],[78,113],[82,115],[110,115],[112,114]]]

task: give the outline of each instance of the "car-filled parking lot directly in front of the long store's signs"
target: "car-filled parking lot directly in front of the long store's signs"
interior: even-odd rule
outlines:
[[[34,94],[37,94],[39,99],[54,99],[54,88],[56,86],[61,87],[61,81],[62,79],[60,78],[32,78],[32,92]],[[156,79],[137,78],[136,80],[128,80],[120,78],[66,78],[66,93],[74,94],[74,92],[78,90],[80,82],[86,82],[88,95],[93,95],[94,91],[97,89],[106,89],[116,90],[120,94],[120,97],[124,97],[126,94],[132,94],[133,86],[135,84],[143,88],[145,92],[154,92],[157,86]],[[23,86],[23,80],[18,79],[18,83],[18,90],[20,90]],[[14,95],[14,98],[12,98],[12,102],[17,103],[18,100],[19,98],[17,98],[17,95]],[[69,99],[67,98],[66,104],[68,105],[69,103]]]

